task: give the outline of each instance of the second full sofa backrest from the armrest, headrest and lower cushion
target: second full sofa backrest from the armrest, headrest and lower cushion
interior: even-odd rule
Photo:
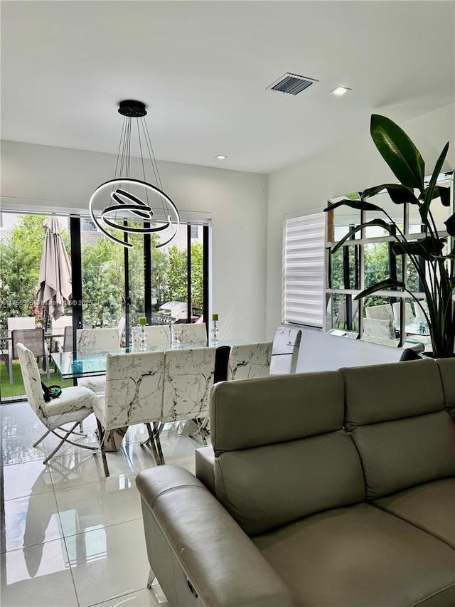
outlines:
[[[362,460],[368,499],[455,474],[455,422],[444,409],[435,361],[340,373],[345,382],[345,426]]]

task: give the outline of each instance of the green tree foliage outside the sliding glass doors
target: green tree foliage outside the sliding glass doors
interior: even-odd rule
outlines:
[[[38,273],[45,238],[46,216],[20,216],[17,226],[0,243],[0,320],[31,315],[36,302]],[[95,233],[93,233],[95,236]],[[70,234],[62,231],[70,255]],[[187,250],[171,246],[156,249],[159,236],[151,235],[152,308],[167,301],[187,300]],[[130,322],[144,315],[144,237],[129,234],[128,249]],[[191,305],[203,306],[203,246],[191,244]],[[95,236],[82,242],[83,318],[87,326],[112,327],[124,315],[124,248],[108,238]],[[71,313],[70,308],[68,313]]]

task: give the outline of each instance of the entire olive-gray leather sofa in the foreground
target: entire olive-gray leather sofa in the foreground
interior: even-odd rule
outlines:
[[[217,384],[210,490],[137,477],[168,603],[453,607],[454,411],[455,359]]]

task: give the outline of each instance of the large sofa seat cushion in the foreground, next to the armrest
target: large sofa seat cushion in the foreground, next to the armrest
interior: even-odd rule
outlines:
[[[455,604],[455,551],[367,504],[321,512],[252,541],[300,605]]]

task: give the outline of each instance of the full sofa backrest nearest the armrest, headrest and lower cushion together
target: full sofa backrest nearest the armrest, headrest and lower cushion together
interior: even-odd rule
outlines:
[[[215,493],[247,534],[364,500],[343,396],[337,371],[214,386]]]

